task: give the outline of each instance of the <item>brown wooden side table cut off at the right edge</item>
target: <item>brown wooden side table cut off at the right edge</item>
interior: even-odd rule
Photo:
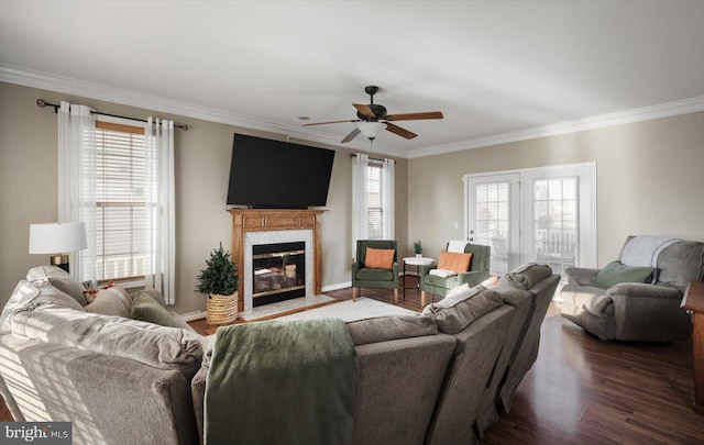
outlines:
[[[681,307],[693,313],[694,411],[704,414],[704,281],[691,281],[686,286]]]

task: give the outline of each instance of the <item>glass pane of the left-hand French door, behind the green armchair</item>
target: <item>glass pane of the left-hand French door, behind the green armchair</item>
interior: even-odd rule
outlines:
[[[473,243],[492,247],[491,272],[508,271],[510,182],[485,182],[475,187],[476,233]]]

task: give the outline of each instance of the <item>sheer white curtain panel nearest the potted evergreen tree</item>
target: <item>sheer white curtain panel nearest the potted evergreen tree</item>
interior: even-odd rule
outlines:
[[[176,199],[174,121],[147,118],[144,129],[147,178],[144,286],[156,289],[167,304],[176,300]]]

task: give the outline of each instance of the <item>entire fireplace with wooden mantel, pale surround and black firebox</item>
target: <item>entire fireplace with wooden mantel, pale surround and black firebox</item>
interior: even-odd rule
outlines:
[[[300,292],[299,297],[314,297],[321,293],[320,219],[323,210],[231,209],[229,212],[232,214],[232,258],[240,271],[239,311],[272,302],[267,300],[297,298],[293,297],[293,293],[278,292],[279,289],[276,288],[284,285],[290,288],[304,286],[302,289],[288,289]],[[302,244],[305,254],[300,257],[296,257],[299,255],[296,254],[292,258],[290,253],[300,248],[287,246],[279,249],[275,246],[289,243],[300,243],[298,246]],[[263,251],[258,251],[260,247],[257,247],[255,253],[254,246],[262,246]],[[283,256],[286,253],[288,258],[284,264]],[[282,257],[254,258],[267,254],[280,254]],[[286,268],[293,265],[296,266],[295,269]],[[288,286],[294,270],[296,285]],[[257,283],[255,283],[255,278],[260,275],[268,282],[263,285],[256,280]],[[272,289],[264,289],[270,286]],[[278,296],[279,293],[284,296]]]

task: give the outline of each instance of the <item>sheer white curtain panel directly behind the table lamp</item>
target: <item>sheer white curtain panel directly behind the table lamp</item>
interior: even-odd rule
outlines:
[[[96,281],[96,118],[86,105],[58,110],[58,222],[84,222],[88,248],[72,253],[70,275]]]

